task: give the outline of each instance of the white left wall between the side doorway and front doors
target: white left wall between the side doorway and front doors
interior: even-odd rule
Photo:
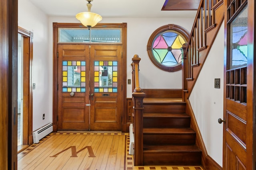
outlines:
[[[48,16],[28,0],[18,1],[18,26],[33,38],[33,131],[52,122],[52,55],[48,53]],[[45,119],[43,120],[43,113]]]

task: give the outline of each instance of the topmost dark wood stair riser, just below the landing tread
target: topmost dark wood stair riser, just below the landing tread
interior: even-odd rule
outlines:
[[[143,105],[144,113],[185,113],[186,105]]]

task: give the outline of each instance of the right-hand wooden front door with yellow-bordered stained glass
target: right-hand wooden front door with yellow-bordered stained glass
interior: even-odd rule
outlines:
[[[91,130],[121,130],[122,45],[93,45],[90,58]]]

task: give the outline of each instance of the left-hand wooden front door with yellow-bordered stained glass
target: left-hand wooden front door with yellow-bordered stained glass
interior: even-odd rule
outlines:
[[[58,130],[89,130],[90,48],[58,45]]]

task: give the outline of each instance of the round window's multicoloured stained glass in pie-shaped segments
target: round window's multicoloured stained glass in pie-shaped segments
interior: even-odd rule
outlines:
[[[182,61],[180,48],[186,43],[178,33],[165,31],[160,33],[152,43],[152,53],[158,63],[164,66],[175,66]]]

